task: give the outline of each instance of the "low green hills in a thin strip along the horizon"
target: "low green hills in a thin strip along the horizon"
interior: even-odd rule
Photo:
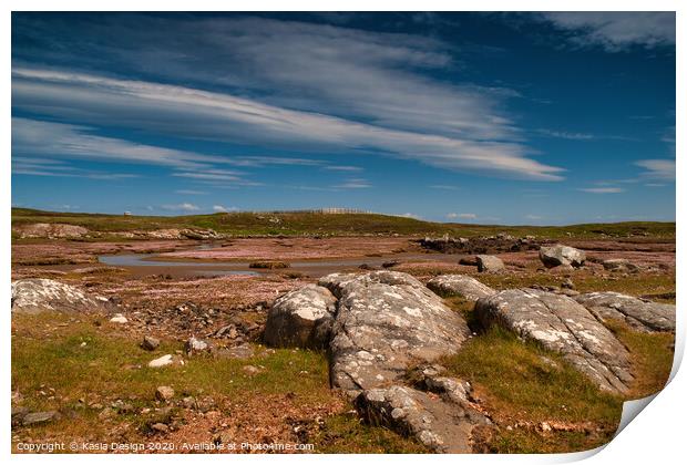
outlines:
[[[675,238],[675,223],[632,221],[572,226],[498,226],[431,223],[414,218],[378,214],[321,213],[218,213],[188,216],[133,216],[42,211],[12,208],[12,226],[34,223],[60,223],[83,226],[99,232],[154,230],[164,228],[209,228],[235,236],[355,236],[399,234],[471,237],[507,232],[513,236],[536,235],[548,238],[601,238],[646,236]]]

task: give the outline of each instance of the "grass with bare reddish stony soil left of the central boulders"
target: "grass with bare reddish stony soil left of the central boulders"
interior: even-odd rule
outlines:
[[[290,442],[300,425],[301,441],[314,444],[314,452],[427,452],[351,415],[350,405],[329,389],[325,353],[255,345],[256,355],[246,360],[196,356],[183,366],[152,369],[150,360],[181,351],[183,343],[162,340],[152,353],[139,342],[98,317],[16,317],[12,391],[21,393],[23,406],[55,410],[61,417],[21,430],[13,443],[162,441],[151,425],[164,422],[173,435],[165,441],[213,441],[209,431],[217,430],[230,432],[237,443]],[[247,374],[247,365],[258,373]],[[160,385],[174,389],[168,404],[155,399]],[[184,399],[193,399],[194,406],[183,406]]]

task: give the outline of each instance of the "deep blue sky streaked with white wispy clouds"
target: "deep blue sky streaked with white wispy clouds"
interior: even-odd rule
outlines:
[[[673,13],[13,13],[12,204],[675,219]]]

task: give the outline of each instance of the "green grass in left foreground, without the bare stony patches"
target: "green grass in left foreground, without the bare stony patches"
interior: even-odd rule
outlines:
[[[135,409],[154,407],[154,393],[160,385],[172,386],[176,399],[211,396],[218,405],[222,402],[258,405],[260,410],[267,409],[265,412],[269,412],[266,401],[269,395],[286,395],[296,409],[341,402],[329,389],[327,359],[321,352],[278,349],[249,360],[196,356],[183,366],[150,369],[148,361],[174,353],[182,344],[163,340],[155,352],[146,352],[137,342],[107,326],[99,328],[85,318],[74,322],[63,314],[16,316],[12,391],[22,394],[22,405],[31,411],[59,410],[76,415],[65,414],[59,421],[32,426],[32,437],[100,442],[110,437],[113,427],[133,425],[134,431],[129,428],[127,437],[141,441],[147,431],[148,416],[120,414],[103,422],[100,410],[89,409],[79,400],[85,400],[86,404],[95,400],[107,406],[122,399]],[[242,370],[247,364],[264,370],[248,376]],[[51,395],[54,399],[49,399]],[[258,417],[256,414],[256,422]],[[361,424],[344,413],[327,417],[325,427],[308,437],[308,442],[315,444],[315,452],[423,452],[411,440]]]

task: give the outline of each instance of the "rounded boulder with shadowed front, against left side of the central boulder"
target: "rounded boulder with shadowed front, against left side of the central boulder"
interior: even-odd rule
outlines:
[[[285,293],[269,310],[265,342],[274,347],[326,347],[336,302],[327,288],[316,285]]]

